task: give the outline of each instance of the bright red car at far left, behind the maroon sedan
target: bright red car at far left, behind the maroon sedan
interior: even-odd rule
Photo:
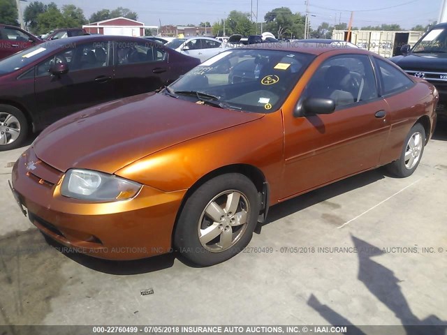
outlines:
[[[19,27],[0,24],[0,59],[27,49],[43,40]]]

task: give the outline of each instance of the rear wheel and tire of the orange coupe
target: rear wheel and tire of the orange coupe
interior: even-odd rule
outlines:
[[[424,127],[421,124],[415,124],[405,138],[400,158],[386,165],[388,171],[399,178],[411,176],[422,159],[425,139]]]

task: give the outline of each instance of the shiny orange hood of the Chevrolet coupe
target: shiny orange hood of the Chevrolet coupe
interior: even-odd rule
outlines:
[[[115,173],[156,151],[261,117],[142,94],[61,119],[38,136],[33,148],[39,159],[62,172],[85,168]]]

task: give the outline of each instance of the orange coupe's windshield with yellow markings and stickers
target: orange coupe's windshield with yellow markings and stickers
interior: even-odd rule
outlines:
[[[274,112],[314,57],[281,50],[228,50],[193,68],[161,93],[231,110]]]

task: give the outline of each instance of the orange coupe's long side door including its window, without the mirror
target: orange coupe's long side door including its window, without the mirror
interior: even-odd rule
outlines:
[[[389,107],[366,55],[324,61],[300,102],[313,97],[332,99],[337,107],[332,114],[284,114],[283,199],[375,168],[390,132]]]

